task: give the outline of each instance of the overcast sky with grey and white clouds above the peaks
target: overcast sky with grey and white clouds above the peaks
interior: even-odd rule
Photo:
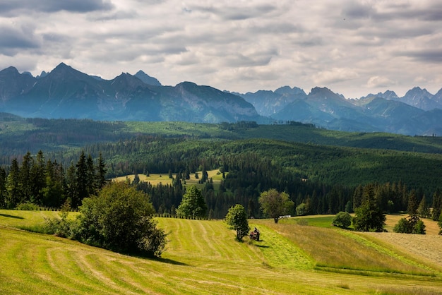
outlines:
[[[256,92],[442,88],[442,0],[1,0],[0,69]]]

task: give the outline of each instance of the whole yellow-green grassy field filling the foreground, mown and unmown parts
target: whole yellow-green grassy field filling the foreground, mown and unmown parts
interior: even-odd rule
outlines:
[[[325,216],[251,219],[262,241],[243,243],[222,221],[159,218],[167,250],[146,259],[17,229],[56,215],[0,210],[0,294],[442,294],[436,235],[393,234],[431,243],[431,259],[385,233],[322,227]]]

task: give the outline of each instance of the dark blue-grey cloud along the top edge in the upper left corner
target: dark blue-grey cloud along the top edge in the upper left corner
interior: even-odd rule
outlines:
[[[71,11],[89,12],[112,9],[113,5],[107,0],[2,0],[0,15],[15,14],[23,11]]]

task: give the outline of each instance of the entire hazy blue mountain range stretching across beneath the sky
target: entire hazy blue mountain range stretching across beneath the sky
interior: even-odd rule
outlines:
[[[100,121],[299,121],[340,131],[406,135],[442,134],[442,89],[415,87],[346,99],[328,88],[284,86],[275,91],[221,91],[182,82],[165,86],[143,71],[112,80],[81,73],[64,63],[34,77],[13,66],[0,71],[0,112],[23,117]]]

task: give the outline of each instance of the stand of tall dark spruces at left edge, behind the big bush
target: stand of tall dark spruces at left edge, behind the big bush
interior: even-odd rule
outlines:
[[[41,150],[35,157],[28,152],[20,164],[14,158],[7,172],[0,167],[0,207],[9,209],[23,203],[58,208],[66,199],[77,208],[83,198],[97,194],[106,183],[102,156],[94,161],[84,152],[68,169],[51,159],[46,161]]]

